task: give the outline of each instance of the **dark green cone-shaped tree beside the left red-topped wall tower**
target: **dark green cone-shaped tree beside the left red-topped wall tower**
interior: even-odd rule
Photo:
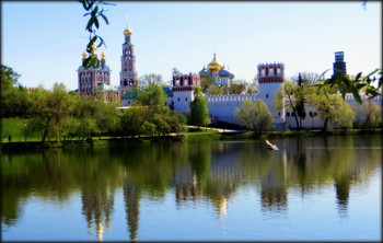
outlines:
[[[202,96],[201,89],[195,88],[195,99],[190,102],[189,124],[194,126],[206,126],[210,123],[208,103]]]

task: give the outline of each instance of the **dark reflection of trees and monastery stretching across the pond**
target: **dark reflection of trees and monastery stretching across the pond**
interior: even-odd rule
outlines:
[[[118,188],[123,188],[127,236],[131,241],[139,240],[143,195],[156,201],[172,190],[177,210],[189,201],[204,201],[222,217],[231,213],[228,206],[235,204],[233,198],[240,188],[259,192],[262,211],[286,215],[291,189],[305,197],[334,185],[338,215],[347,217],[351,188],[372,176],[382,155],[379,148],[356,149],[379,147],[380,136],[274,142],[280,151],[267,150],[263,141],[254,141],[128,143],[2,154],[1,222],[10,229],[18,227],[23,205],[32,196],[66,204],[70,195],[81,192],[82,215],[88,223],[84,230],[103,241],[104,229],[109,231],[114,220]]]

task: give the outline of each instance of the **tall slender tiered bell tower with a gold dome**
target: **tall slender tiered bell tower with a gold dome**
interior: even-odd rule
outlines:
[[[130,89],[137,86],[135,46],[131,44],[131,30],[127,26],[124,31],[121,71],[119,72],[119,94],[124,96]]]

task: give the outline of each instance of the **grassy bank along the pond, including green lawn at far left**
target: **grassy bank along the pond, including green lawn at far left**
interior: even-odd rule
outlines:
[[[254,139],[272,139],[272,138],[294,138],[294,137],[318,137],[318,136],[355,136],[367,134],[382,134],[382,129],[375,129],[373,131],[365,131],[360,129],[348,130],[328,130],[323,132],[322,130],[301,130],[301,131],[264,131],[258,135],[253,131],[246,132],[223,132],[211,128],[195,128],[187,127],[184,134],[162,137],[146,137],[140,138],[115,138],[115,137],[94,137],[88,140],[72,140],[66,143],[47,141],[42,143],[37,135],[28,135],[25,141],[25,134],[23,128],[25,127],[25,120],[22,118],[3,119],[2,127],[3,135],[11,134],[12,142],[3,142],[1,149],[3,151],[10,150],[31,150],[31,149],[49,149],[49,148],[70,148],[70,147],[94,147],[94,146],[124,146],[128,143],[151,143],[151,142],[174,142],[174,141],[212,141],[212,140],[254,140]],[[2,140],[3,141],[3,140]]]

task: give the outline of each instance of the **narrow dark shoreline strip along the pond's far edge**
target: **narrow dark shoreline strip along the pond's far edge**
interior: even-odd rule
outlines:
[[[204,129],[211,129],[201,127]],[[259,140],[266,138],[300,138],[300,137],[327,137],[327,136],[363,136],[363,135],[382,135],[382,129],[360,130],[360,129],[333,129],[326,132],[322,130],[289,130],[289,131],[263,131],[255,135],[253,131],[239,132],[196,132],[196,134],[178,134],[161,137],[135,137],[135,138],[93,138],[88,140],[72,140],[62,142],[54,141],[16,141],[2,142],[0,151],[20,151],[20,150],[45,150],[55,148],[76,148],[76,147],[95,147],[95,146],[124,146],[126,143],[156,143],[156,142],[198,142],[198,141],[229,141],[229,140]]]

